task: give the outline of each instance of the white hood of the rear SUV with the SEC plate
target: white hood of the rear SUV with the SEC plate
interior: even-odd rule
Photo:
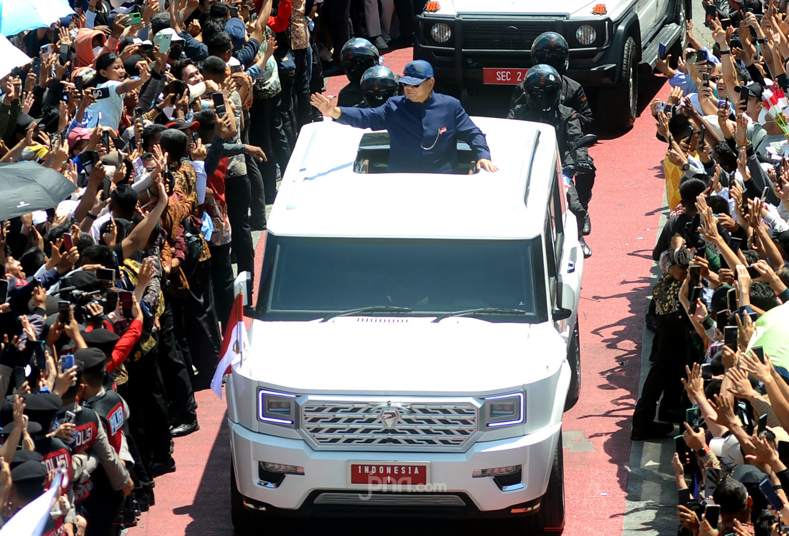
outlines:
[[[458,15],[465,14],[489,14],[489,15],[557,15],[567,17],[591,17],[592,8],[596,2],[589,0],[560,0],[559,2],[537,2],[536,0],[441,0],[442,9],[439,13],[444,13],[443,4],[447,2],[447,11],[451,10],[450,4],[454,4],[454,12]],[[548,29],[548,28],[546,28]]]

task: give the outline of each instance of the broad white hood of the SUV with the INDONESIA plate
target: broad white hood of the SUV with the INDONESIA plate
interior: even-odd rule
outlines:
[[[473,394],[556,374],[566,346],[548,324],[479,318],[340,317],[252,322],[238,372],[297,393]]]

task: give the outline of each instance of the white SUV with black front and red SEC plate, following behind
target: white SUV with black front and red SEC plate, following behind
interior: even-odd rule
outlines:
[[[413,58],[430,61],[437,90],[458,96],[483,84],[518,84],[532,41],[559,32],[570,47],[567,76],[603,88],[607,125],[630,128],[639,65],[649,70],[662,43],[679,58],[690,0],[438,0],[417,15]]]

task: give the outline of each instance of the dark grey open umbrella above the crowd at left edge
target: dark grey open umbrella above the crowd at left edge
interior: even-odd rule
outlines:
[[[77,187],[36,162],[0,164],[0,220],[58,206]]]

